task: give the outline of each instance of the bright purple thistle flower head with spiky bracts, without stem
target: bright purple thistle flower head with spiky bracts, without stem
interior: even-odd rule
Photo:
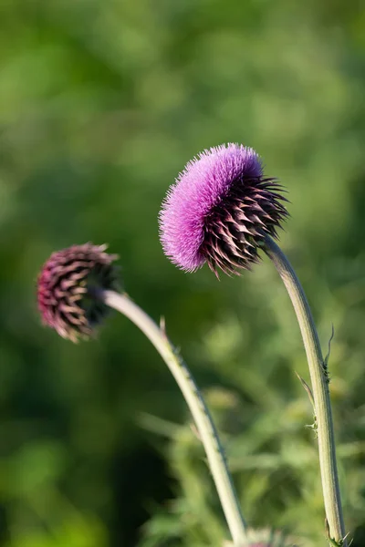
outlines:
[[[160,212],[160,238],[172,263],[193,272],[208,263],[238,274],[257,263],[265,236],[287,217],[281,186],[264,177],[255,150],[238,144],[203,150],[178,175]]]

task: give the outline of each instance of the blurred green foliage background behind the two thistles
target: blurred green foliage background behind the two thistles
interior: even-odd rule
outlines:
[[[1,0],[0,544],[221,547],[228,534],[170,373],[113,315],[78,346],[44,329],[50,253],[109,243],[214,411],[246,519],[324,545],[297,324],[265,258],[183,274],[157,214],[227,141],[291,201],[282,246],[329,360],[347,530],[365,544],[365,10],[356,1]]]

